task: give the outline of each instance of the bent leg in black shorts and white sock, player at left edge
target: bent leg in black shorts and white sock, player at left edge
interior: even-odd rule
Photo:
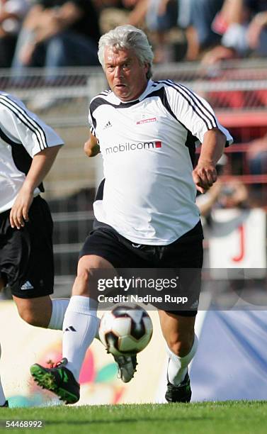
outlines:
[[[16,240],[11,244],[13,269],[8,284],[18,313],[31,325],[62,330],[68,300],[50,299],[54,290],[54,257],[47,203],[36,197],[30,206],[28,223],[13,232]]]

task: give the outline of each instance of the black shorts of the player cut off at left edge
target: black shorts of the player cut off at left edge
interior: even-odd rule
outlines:
[[[52,217],[40,196],[33,199],[24,228],[11,228],[10,210],[0,214],[0,277],[13,296],[33,299],[52,294]]]

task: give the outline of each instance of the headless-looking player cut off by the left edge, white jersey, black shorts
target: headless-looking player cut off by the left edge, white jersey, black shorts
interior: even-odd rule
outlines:
[[[9,286],[21,318],[62,330],[69,300],[51,300],[52,217],[40,193],[62,138],[24,104],[0,92],[0,290]]]

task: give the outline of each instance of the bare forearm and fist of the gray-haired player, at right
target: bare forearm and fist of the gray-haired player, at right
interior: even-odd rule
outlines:
[[[215,169],[222,156],[227,138],[219,128],[212,128],[204,135],[198,165],[193,169],[193,181],[200,193],[205,193],[217,180]]]

